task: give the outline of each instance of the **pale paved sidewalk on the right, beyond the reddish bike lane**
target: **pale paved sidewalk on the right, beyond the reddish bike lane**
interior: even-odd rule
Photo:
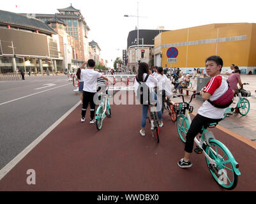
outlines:
[[[255,126],[256,124],[256,96],[255,96],[256,95],[256,92],[255,92],[256,76],[241,75],[241,81],[242,83],[250,84],[250,85],[245,85],[244,87],[244,89],[251,92],[251,96],[247,98],[250,101],[250,111],[245,116],[242,116],[239,113],[233,113],[233,115],[230,115],[229,117],[225,117],[225,119],[220,121],[219,124],[223,128],[229,129],[230,131],[238,135],[244,136],[245,138],[248,138],[249,140],[256,142],[256,126]],[[190,96],[185,96],[184,99],[188,101],[188,99],[190,99]],[[182,99],[175,98],[173,99],[173,101],[181,102]],[[192,100],[194,113],[197,113],[197,110],[202,105],[202,103],[203,101],[200,101],[198,99]]]

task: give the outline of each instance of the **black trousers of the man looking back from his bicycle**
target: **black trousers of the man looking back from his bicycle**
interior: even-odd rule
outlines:
[[[202,133],[202,127],[206,124],[219,122],[222,119],[209,119],[208,117],[204,117],[202,115],[195,115],[190,128],[188,129],[188,133],[186,133],[186,144],[185,151],[188,153],[192,153],[194,138],[197,134]]]

